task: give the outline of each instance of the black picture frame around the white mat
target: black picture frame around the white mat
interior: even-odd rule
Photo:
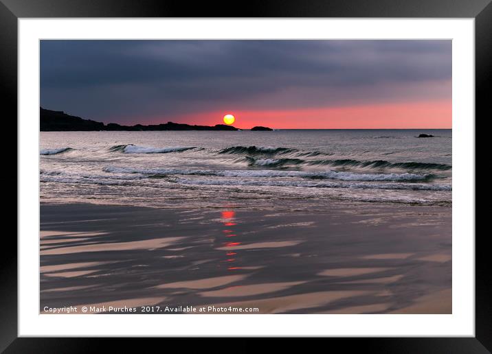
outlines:
[[[487,86],[492,78],[491,0],[249,0],[245,2],[176,0],[0,0],[1,112],[7,136],[17,132],[17,20],[53,17],[440,17],[474,18],[476,30],[476,117],[490,117]],[[470,117],[474,119],[474,117]],[[476,119],[476,118],[475,118]],[[477,120],[477,119],[476,119]],[[15,139],[15,138],[14,138]],[[14,142],[9,143],[13,146]],[[480,151],[477,149],[477,152]],[[17,156],[3,154],[9,172],[0,175],[6,186],[17,184]],[[6,188],[5,226],[16,220],[14,188]],[[9,204],[7,204],[7,202]],[[461,235],[474,237],[475,235]],[[474,338],[330,338],[348,351],[377,353],[490,353],[492,351],[491,257],[485,246],[487,233],[476,237],[476,336]],[[3,233],[6,245],[0,257],[0,351],[5,353],[85,353],[102,344],[125,352],[141,351],[127,339],[17,338],[17,241]],[[168,339],[166,339],[168,340]],[[242,342],[245,339],[241,340]],[[343,341],[343,343],[342,343]],[[109,343],[107,343],[109,342]],[[239,343],[236,343],[239,344]],[[169,345],[169,344],[168,344]],[[241,349],[253,350],[251,344]]]

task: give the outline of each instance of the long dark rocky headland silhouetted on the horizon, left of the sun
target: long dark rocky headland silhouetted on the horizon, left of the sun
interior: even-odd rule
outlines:
[[[238,130],[238,128],[226,126],[225,124],[217,124],[216,126],[190,126],[189,124],[173,123],[172,121],[149,126],[143,126],[142,124],[136,124],[135,126],[121,126],[118,123],[108,123],[105,125],[99,121],[91,121],[90,119],[82,119],[73,115],[67,115],[60,110],[40,108],[40,130],[42,132],[59,132],[80,130]]]

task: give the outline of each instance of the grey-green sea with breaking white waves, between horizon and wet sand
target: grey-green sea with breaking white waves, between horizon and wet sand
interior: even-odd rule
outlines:
[[[418,134],[433,138],[417,138]],[[451,130],[41,132],[42,202],[451,206]]]

